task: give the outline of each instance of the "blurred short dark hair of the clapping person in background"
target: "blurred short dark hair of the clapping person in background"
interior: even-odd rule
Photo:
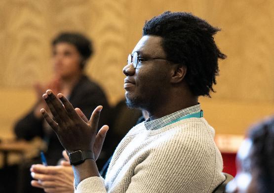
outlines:
[[[93,54],[93,47],[91,40],[79,33],[64,32],[59,34],[55,39],[52,40],[52,45],[55,46],[57,43],[66,42],[73,44],[82,57],[80,63],[81,69],[84,68],[86,61]]]

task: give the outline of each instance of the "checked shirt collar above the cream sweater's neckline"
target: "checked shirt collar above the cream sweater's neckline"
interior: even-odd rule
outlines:
[[[201,111],[201,106],[198,103],[195,106],[192,107],[188,107],[185,109],[182,109],[180,111],[177,111],[175,113],[169,114],[167,116],[163,116],[161,118],[157,118],[155,120],[150,120],[150,118],[148,118],[144,123],[145,123],[145,127],[147,130],[156,130],[161,128],[162,126],[166,125],[167,123],[180,118],[182,116],[187,116],[190,114],[194,114],[194,113],[198,113]]]

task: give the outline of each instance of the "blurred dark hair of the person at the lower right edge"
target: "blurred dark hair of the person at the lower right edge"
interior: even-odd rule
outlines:
[[[259,193],[274,193],[274,117],[251,128],[251,172],[256,175]]]

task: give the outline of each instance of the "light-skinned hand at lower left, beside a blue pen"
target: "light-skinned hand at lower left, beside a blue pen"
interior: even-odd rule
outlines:
[[[72,166],[32,165],[31,175],[34,187],[44,189],[46,193],[73,193],[74,174]]]

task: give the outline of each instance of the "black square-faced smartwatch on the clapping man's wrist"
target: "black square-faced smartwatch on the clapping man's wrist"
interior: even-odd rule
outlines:
[[[86,159],[94,159],[94,154],[91,151],[75,151],[69,153],[71,165],[78,165]]]

